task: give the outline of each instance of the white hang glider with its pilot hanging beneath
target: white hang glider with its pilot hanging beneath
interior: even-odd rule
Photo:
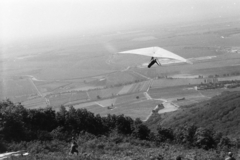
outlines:
[[[152,57],[149,65],[148,65],[148,68],[150,68],[155,63],[160,65],[160,62],[158,61],[160,59],[177,60],[179,62],[186,62],[186,63],[192,64],[192,62],[190,62],[189,60],[187,60],[177,54],[174,54],[170,51],[167,51],[163,48],[160,48],[160,47],[140,48],[140,49],[134,49],[134,50],[129,50],[129,51],[123,51],[123,52],[119,52],[119,53],[121,53],[121,54],[137,54],[137,55]]]

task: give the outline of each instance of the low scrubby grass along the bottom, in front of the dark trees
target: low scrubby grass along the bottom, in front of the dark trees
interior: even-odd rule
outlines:
[[[46,160],[173,160],[181,156],[183,160],[224,160],[229,150],[202,150],[188,149],[181,145],[170,145],[162,143],[155,146],[153,143],[131,139],[130,137],[120,138],[120,143],[114,142],[114,137],[92,139],[78,138],[79,155],[68,155],[70,144],[62,141],[32,142],[25,144],[25,148],[31,153],[26,157],[16,159],[46,159]],[[18,147],[21,147],[19,145]],[[231,150],[234,157],[238,151]],[[14,158],[15,159],[15,158]]]

